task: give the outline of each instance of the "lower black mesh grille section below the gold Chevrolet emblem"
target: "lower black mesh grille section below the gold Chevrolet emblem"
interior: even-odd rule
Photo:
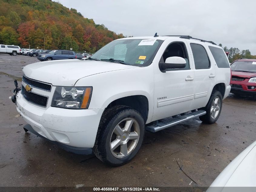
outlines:
[[[48,97],[45,97],[45,96],[42,96],[42,95],[38,95],[36,93],[28,92],[28,91],[26,91],[24,86],[22,86],[21,93],[22,93],[22,96],[28,102],[33,103],[33,104],[38,105],[38,106],[46,107],[47,101],[48,101]]]

